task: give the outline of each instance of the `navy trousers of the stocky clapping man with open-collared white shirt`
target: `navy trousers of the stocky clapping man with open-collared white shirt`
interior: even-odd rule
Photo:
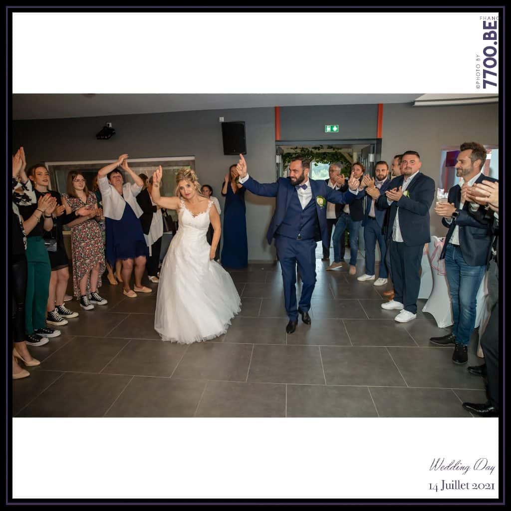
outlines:
[[[390,241],[390,260],[394,284],[395,301],[403,304],[405,311],[417,313],[417,298],[421,288],[422,253],[424,243],[408,247],[404,243]]]

